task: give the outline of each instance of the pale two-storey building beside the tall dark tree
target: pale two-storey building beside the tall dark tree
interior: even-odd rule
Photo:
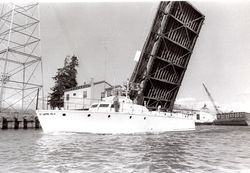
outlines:
[[[88,109],[94,102],[101,100],[103,91],[110,88],[106,81],[94,82],[73,87],[64,92],[64,109]]]

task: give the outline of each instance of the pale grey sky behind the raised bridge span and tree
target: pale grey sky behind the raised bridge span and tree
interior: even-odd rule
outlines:
[[[176,103],[250,112],[250,1],[190,1],[205,15]],[[79,58],[78,84],[130,78],[158,2],[41,3],[44,90],[67,55]],[[211,108],[212,109],[212,108]]]

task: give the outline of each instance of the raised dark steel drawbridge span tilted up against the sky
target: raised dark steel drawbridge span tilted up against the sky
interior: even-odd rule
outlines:
[[[172,111],[205,17],[185,1],[160,2],[130,83],[150,110]]]

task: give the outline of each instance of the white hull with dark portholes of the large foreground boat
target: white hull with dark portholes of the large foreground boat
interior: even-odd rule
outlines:
[[[44,132],[131,134],[195,129],[192,119],[166,115],[41,110],[37,116]]]

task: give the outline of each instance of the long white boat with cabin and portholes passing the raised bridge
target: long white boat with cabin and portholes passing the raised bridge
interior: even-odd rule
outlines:
[[[163,133],[195,129],[195,122],[182,113],[150,112],[142,105],[119,97],[116,112],[113,97],[85,110],[37,110],[44,132],[84,132],[97,134]]]

